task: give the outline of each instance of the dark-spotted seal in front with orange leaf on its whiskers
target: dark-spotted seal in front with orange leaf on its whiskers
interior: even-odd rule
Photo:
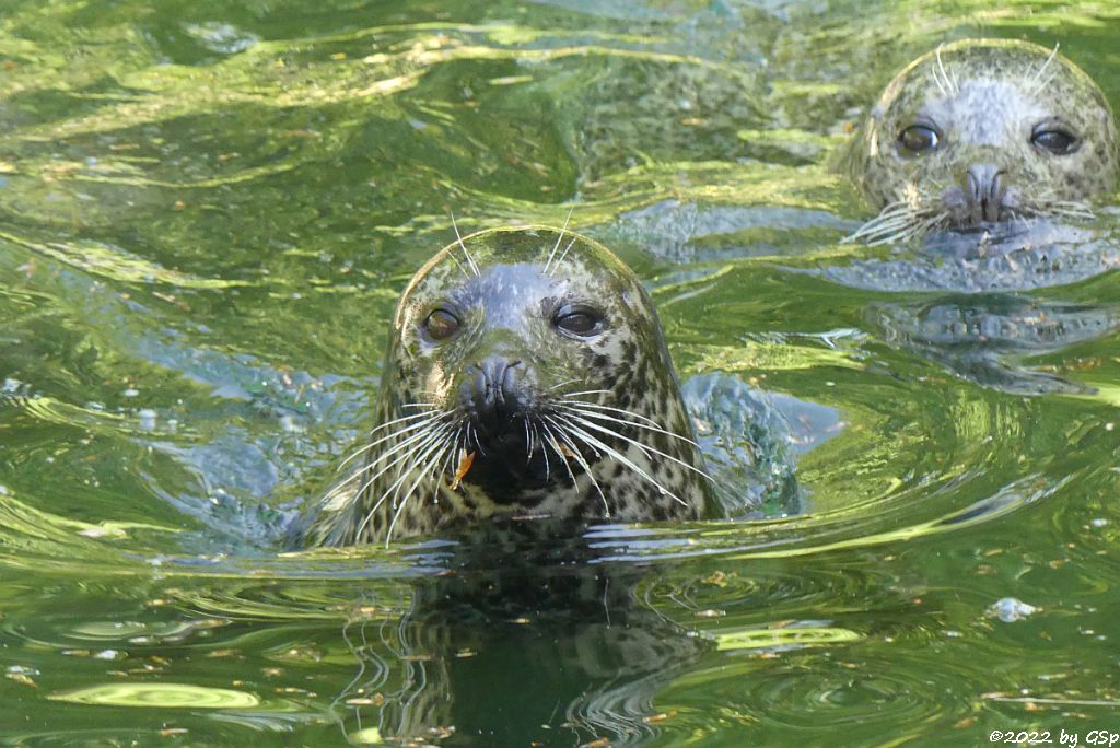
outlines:
[[[382,376],[379,423],[308,544],[712,511],[656,312],[589,239],[521,227],[448,245],[404,290]]]

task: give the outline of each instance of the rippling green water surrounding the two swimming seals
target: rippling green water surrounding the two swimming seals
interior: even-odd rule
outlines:
[[[881,256],[838,243],[866,209],[825,163],[894,69],[1061,41],[1117,106],[1118,32],[1108,2],[0,1],[0,740],[1120,732],[1116,273],[804,272]],[[805,511],[600,530],[576,567],[270,545],[368,428],[449,213],[569,211],[683,376],[839,414]],[[936,339],[1000,315],[1061,329]]]

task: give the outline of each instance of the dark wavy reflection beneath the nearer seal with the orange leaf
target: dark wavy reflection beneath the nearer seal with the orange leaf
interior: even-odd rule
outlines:
[[[542,576],[547,558],[531,558],[517,571],[468,564],[428,578],[399,621],[347,625],[360,663],[336,699],[347,733],[494,745],[656,736],[655,694],[710,642],[640,598],[641,568],[577,562]]]

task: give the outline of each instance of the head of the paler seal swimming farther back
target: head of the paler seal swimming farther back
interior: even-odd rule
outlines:
[[[841,156],[881,212],[848,237],[1092,217],[1117,183],[1117,127],[1100,87],[1035,44],[967,39],[918,57],[884,90]]]

